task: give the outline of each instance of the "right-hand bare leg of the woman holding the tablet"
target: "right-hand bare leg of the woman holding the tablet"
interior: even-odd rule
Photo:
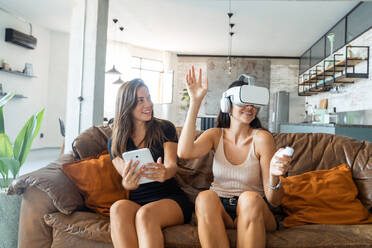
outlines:
[[[162,228],[182,224],[183,212],[177,202],[163,199],[142,206],[136,215],[139,247],[164,247]]]

